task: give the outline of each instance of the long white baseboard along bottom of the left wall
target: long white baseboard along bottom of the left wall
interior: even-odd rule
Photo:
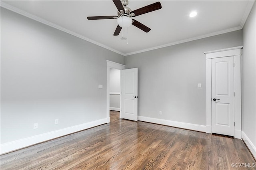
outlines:
[[[47,133],[43,133],[43,134],[38,134],[36,136],[31,136],[28,138],[23,138],[20,140],[15,140],[12,142],[8,142],[8,143],[4,143],[0,145],[0,154],[4,154],[7,152],[11,152],[13,150],[17,150],[20,148],[24,148],[33,144],[37,144],[40,142],[44,142],[46,140],[50,140],[53,138],[58,138],[60,136],[64,136],[67,134],[71,134],[74,132],[78,132],[80,130],[84,130],[87,128],[91,128],[91,127],[96,127],[98,125],[102,125],[107,123],[107,119],[100,119],[97,121],[92,121],[92,122],[88,122],[88,123],[84,123],[81,125],[76,125],[76,126],[72,126],[72,127],[68,127],[68,128],[63,128],[60,130],[55,130],[52,132],[47,132]]]

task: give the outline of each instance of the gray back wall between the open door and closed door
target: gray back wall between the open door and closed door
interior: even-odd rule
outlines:
[[[240,45],[242,30],[126,56],[126,69],[138,67],[138,115],[206,125],[203,52]]]

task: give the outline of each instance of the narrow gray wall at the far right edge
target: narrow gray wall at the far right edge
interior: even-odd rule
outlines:
[[[242,131],[256,147],[256,4],[243,28]],[[247,143],[248,141],[246,141]],[[248,143],[247,143],[248,144]],[[256,153],[254,152],[254,156]]]

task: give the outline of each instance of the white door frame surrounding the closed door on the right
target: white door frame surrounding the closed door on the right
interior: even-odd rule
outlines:
[[[206,54],[206,133],[212,133],[212,58],[234,56],[234,137],[242,138],[241,49],[243,46],[204,52]]]

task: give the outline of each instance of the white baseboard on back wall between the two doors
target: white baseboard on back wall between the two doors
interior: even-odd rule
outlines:
[[[149,123],[156,123],[160,125],[167,125],[171,127],[178,127],[178,128],[185,128],[190,130],[196,130],[200,132],[206,132],[206,126],[204,125],[196,125],[191,123],[184,123],[184,122],[176,122],[176,121],[169,121],[164,119],[156,119],[151,117],[144,117],[138,116],[139,121],[149,122]]]

